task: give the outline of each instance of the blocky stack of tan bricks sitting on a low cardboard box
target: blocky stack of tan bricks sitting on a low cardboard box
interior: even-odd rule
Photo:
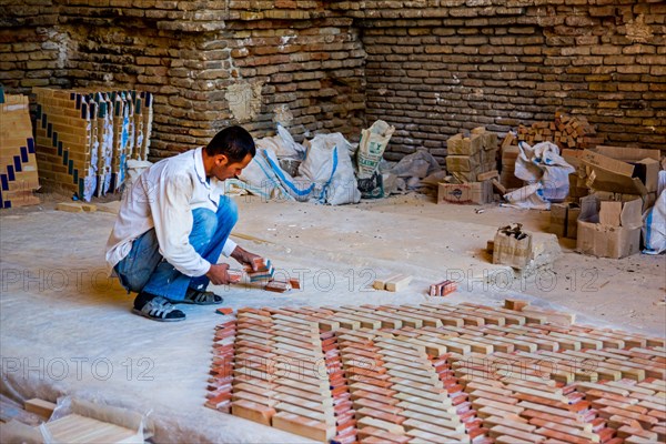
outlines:
[[[483,127],[472,130],[468,138],[455,134],[446,141],[446,171],[457,183],[477,182],[480,174],[497,168],[497,134]]]

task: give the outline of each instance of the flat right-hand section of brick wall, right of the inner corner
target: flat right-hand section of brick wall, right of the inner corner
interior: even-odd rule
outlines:
[[[363,30],[369,122],[386,155],[476,125],[585,115],[610,144],[666,148],[666,3],[658,0],[333,2]]]

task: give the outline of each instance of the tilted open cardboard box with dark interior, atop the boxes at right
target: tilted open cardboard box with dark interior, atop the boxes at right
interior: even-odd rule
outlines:
[[[603,148],[603,147],[602,147]],[[610,150],[608,150],[610,149]],[[614,193],[639,194],[645,195],[648,192],[657,190],[659,161],[653,157],[642,160],[632,160],[630,163],[625,160],[608,157],[604,153],[612,153],[617,157],[632,158],[630,150],[618,147],[605,147],[605,150],[585,150],[581,161],[587,167],[587,185],[599,191],[610,191]],[[650,154],[653,155],[653,154]]]

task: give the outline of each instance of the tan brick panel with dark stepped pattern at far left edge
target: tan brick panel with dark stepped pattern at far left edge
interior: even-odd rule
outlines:
[[[0,208],[33,205],[39,199],[28,97],[0,88]]]

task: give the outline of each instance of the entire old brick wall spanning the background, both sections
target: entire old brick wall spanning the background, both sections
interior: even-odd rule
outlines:
[[[440,160],[461,129],[555,111],[609,144],[666,144],[666,7],[649,0],[6,0],[0,82],[155,93],[153,158],[240,122]]]

